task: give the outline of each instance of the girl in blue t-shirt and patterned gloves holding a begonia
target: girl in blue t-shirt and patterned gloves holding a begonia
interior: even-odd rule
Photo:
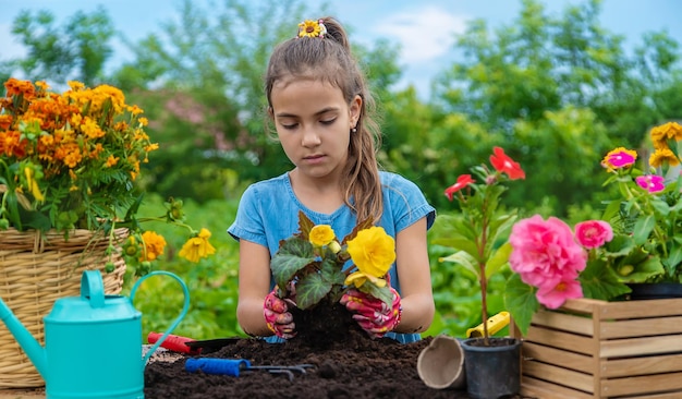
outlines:
[[[228,230],[240,241],[241,327],[280,338],[271,341],[295,335],[291,304],[271,292],[270,258],[299,230],[302,210],[338,237],[368,217],[393,237],[393,306],[357,291],[342,303],[373,337],[418,340],[434,317],[426,231],[436,211],[414,183],[379,171],[372,96],[343,27],[331,17],[301,23],[299,35],[275,49],[265,83],[268,114],[294,168],[252,184]]]

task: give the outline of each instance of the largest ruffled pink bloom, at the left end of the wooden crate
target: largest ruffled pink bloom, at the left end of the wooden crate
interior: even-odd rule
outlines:
[[[534,287],[556,287],[573,280],[587,264],[587,253],[575,241],[569,225],[559,218],[535,215],[512,228],[509,242],[511,269]]]

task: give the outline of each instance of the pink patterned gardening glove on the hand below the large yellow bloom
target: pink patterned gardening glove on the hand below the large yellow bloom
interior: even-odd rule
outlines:
[[[349,290],[341,297],[341,304],[354,313],[353,319],[373,338],[381,338],[392,331],[400,323],[402,307],[400,295],[391,288],[393,303],[388,306],[383,301],[367,293]]]

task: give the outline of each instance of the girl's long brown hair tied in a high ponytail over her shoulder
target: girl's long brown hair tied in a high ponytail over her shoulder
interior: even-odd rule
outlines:
[[[358,221],[372,217],[378,222],[383,202],[376,157],[381,134],[378,123],[372,118],[375,102],[341,24],[329,16],[319,21],[327,28],[324,37],[295,37],[275,48],[265,78],[268,106],[272,107],[272,86],[290,77],[330,83],[341,89],[348,104],[356,95],[363,99],[355,125],[357,132],[349,131],[351,140],[348,162],[341,174],[341,190],[345,204],[356,214]]]

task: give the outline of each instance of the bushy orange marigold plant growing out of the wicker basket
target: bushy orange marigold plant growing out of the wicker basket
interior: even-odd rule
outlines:
[[[77,230],[101,232],[109,241],[107,271],[118,229],[126,230],[123,255],[137,275],[149,271],[166,240],[143,229],[168,221],[186,230],[180,256],[193,262],[212,253],[210,232],[184,222],[182,201],[169,198],[167,213],[138,217],[141,165],[158,149],[144,129],[143,110],[125,104],[112,86],[70,82],[63,94],[45,82],[10,78],[0,98],[0,230],[58,232],[68,241]]]

